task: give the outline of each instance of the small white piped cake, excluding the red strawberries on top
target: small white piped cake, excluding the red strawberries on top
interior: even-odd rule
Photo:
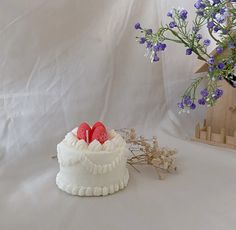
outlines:
[[[57,145],[57,186],[79,196],[106,196],[126,187],[127,148],[120,134],[111,130],[104,144],[94,140],[88,145],[77,138],[76,132],[69,132]]]

